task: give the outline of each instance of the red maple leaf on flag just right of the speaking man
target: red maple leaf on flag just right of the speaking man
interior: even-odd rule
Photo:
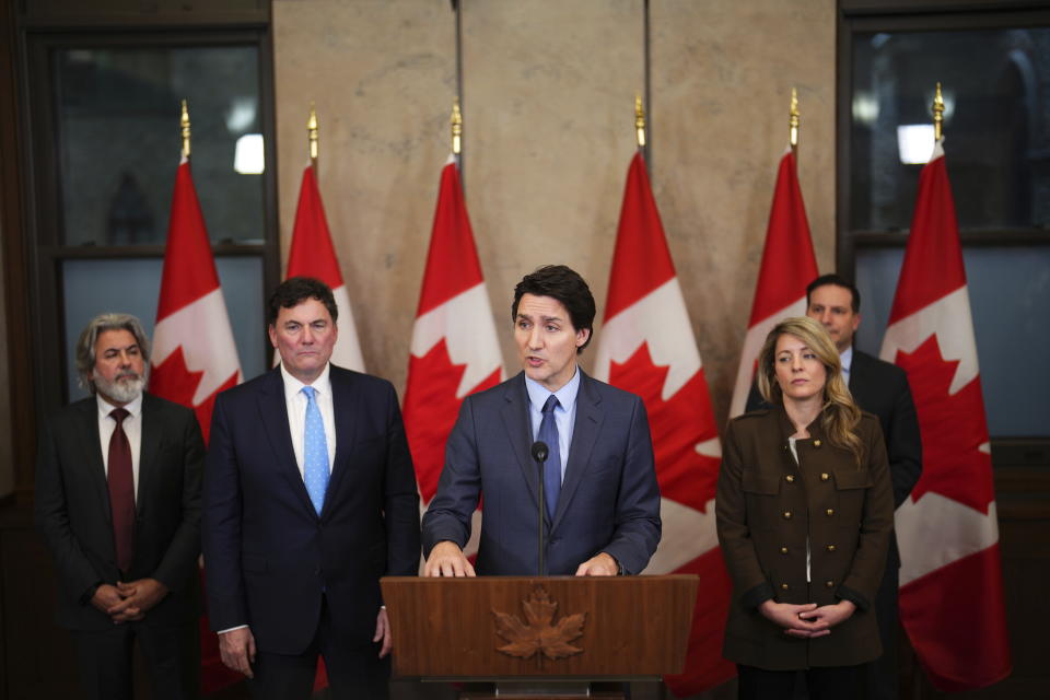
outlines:
[[[664,400],[663,387],[670,368],[653,362],[649,342],[643,342],[627,362],[614,360],[610,364],[609,384],[638,394],[645,402],[661,492],[705,512],[708,501],[714,498],[720,459],[697,451],[701,443],[719,436],[703,372],[693,374]],[[681,416],[689,416],[689,422],[682,423]]]

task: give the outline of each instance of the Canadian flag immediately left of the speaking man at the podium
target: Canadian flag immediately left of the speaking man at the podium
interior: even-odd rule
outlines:
[[[421,505],[438,491],[445,441],[464,397],[502,378],[503,360],[492,307],[453,158],[441,172],[405,388],[405,430]],[[467,553],[477,550],[479,529],[475,523]]]

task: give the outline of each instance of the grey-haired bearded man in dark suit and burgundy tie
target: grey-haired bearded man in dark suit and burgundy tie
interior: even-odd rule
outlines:
[[[55,559],[56,621],[86,698],[130,699],[138,642],[155,698],[199,695],[197,557],[205,445],[194,412],[145,393],[150,347],[128,314],[77,341],[92,396],[47,420],[36,522]]]

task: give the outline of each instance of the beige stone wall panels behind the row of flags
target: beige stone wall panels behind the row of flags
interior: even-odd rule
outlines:
[[[460,4],[464,186],[497,323],[509,326],[514,283],[544,262],[578,269],[600,318],[644,90],[644,3]],[[818,262],[833,265],[835,2],[651,0],[650,23],[653,187],[724,419],[792,85]],[[314,101],[365,363],[402,389],[450,149],[455,16],[447,0],[275,0],[273,37],[282,249]],[[502,341],[513,371],[509,328]]]

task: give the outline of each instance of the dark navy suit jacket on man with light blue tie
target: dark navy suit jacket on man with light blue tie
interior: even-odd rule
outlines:
[[[322,593],[334,633],[365,645],[380,576],[419,571],[419,497],[389,382],[331,366],[336,456],[320,515],[295,463],[280,369],[219,395],[205,469],[203,550],[214,630],[300,654]]]

